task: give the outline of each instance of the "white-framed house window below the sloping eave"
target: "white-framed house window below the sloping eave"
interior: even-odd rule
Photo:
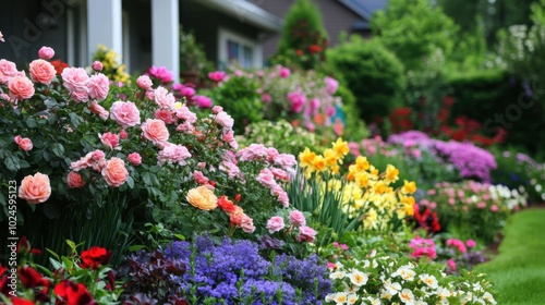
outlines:
[[[219,29],[218,37],[220,69],[232,63],[246,69],[262,66],[262,49],[256,41],[225,28]]]

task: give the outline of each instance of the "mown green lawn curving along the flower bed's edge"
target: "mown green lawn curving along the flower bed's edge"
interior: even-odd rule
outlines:
[[[493,260],[475,271],[488,274],[498,304],[545,304],[545,209],[516,213]]]

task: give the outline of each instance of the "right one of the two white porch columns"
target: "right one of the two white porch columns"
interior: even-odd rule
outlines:
[[[152,0],[152,62],[180,80],[180,21],[178,0]]]

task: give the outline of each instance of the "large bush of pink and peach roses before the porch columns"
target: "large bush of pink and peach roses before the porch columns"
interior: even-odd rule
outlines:
[[[113,83],[96,62],[93,70],[65,68],[57,77],[49,59],[43,51],[28,71],[0,60],[0,118],[7,122],[0,134],[10,136],[0,146],[9,156],[0,178],[16,182],[17,200],[31,204],[20,205],[21,234],[39,237],[43,246],[61,245],[57,241],[68,234],[90,234],[74,232],[87,230],[74,221],[124,225],[125,217],[166,223],[185,236],[211,231],[257,240],[271,228],[280,230],[280,223],[267,223],[290,207],[286,187],[295,172],[294,156],[257,144],[239,148],[229,112],[208,101],[192,105],[187,97],[195,90],[185,85],[171,90],[161,69],[149,71],[160,84],[147,75]],[[190,203],[186,194],[199,186],[214,194],[210,198],[232,198],[233,206]],[[45,216],[51,222],[35,221]],[[292,228],[287,241],[315,240],[316,231],[304,221],[284,219]],[[53,228],[62,233],[46,233]],[[111,239],[111,232],[97,239]]]

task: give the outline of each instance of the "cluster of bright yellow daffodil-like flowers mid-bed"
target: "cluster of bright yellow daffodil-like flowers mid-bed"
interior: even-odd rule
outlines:
[[[395,218],[402,221],[413,215],[415,182],[404,181],[403,186],[393,190],[391,184],[399,180],[399,170],[388,164],[380,173],[363,156],[340,176],[339,167],[348,152],[348,143],[342,138],[332,143],[332,148],[325,149],[323,155],[305,148],[299,155],[300,167],[306,179],[313,173],[322,173],[319,179],[327,176],[327,181],[322,181],[322,192],[327,187],[340,193],[344,212],[352,218],[361,217],[364,230],[387,230]]]

